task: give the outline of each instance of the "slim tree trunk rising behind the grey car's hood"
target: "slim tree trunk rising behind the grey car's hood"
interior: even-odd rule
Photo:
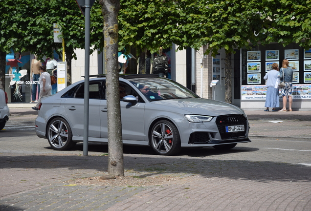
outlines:
[[[225,74],[225,97],[224,101],[228,104],[232,103],[232,83],[231,83],[231,53],[226,52],[224,61]]]

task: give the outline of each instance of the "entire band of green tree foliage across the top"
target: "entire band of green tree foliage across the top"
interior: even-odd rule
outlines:
[[[172,42],[178,49],[209,44],[206,53],[270,42],[311,47],[310,0],[121,0],[119,50],[145,47],[156,51]],[[50,55],[53,23],[62,27],[66,48],[84,48],[84,16],[75,0],[1,0],[0,50]],[[91,46],[103,49],[103,16],[97,1],[91,8]],[[91,50],[92,52],[92,50]]]

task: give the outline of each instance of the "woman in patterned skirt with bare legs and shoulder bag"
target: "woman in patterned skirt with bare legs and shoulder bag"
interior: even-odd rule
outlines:
[[[292,87],[292,69],[289,67],[289,61],[283,60],[282,67],[280,69],[280,81],[285,83],[284,87],[281,87],[281,93],[283,96],[283,108],[279,111],[287,111],[286,104],[287,104],[287,98],[289,98],[289,110],[291,110],[291,104],[292,104],[292,97],[291,97],[291,87]]]

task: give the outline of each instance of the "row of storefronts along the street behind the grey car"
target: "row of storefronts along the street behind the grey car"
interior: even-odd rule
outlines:
[[[168,54],[171,79],[183,84],[203,98],[224,102],[225,51],[219,50],[219,54],[213,58],[211,55],[204,55],[207,46],[202,46],[198,51],[188,48],[175,52],[176,48],[177,46],[173,44]],[[72,83],[83,80],[85,72],[84,50],[77,49],[76,54],[77,60],[72,60],[71,66]],[[6,70],[5,91],[8,93],[9,103],[29,103],[32,100],[33,83],[36,83],[30,77],[31,60],[34,55],[28,52],[10,56],[22,62],[19,70],[27,71],[20,78],[20,81],[9,85],[16,76],[12,74],[13,69],[8,68]],[[288,59],[289,65],[293,69],[292,108],[294,110],[310,110],[311,52],[310,50],[305,51],[295,43],[286,47],[273,43],[266,46],[259,45],[251,50],[236,50],[236,53],[232,54],[231,57],[232,104],[245,110],[264,109],[267,93],[264,76],[272,63],[279,63],[281,66],[283,59]],[[97,52],[90,56],[90,75],[103,73],[105,69],[103,61],[103,55]],[[128,65],[127,73],[134,74],[137,67],[136,58],[131,59]],[[218,81],[218,83],[211,86],[213,80]],[[17,84],[18,88],[16,88]],[[16,90],[19,90],[21,95],[16,95]],[[280,97],[280,106],[283,106],[282,97]]]

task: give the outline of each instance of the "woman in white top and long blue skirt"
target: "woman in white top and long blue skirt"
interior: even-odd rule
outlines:
[[[275,108],[280,107],[279,89],[276,86],[276,83],[278,81],[278,74],[279,74],[279,65],[277,63],[273,63],[272,69],[269,72],[267,72],[267,74],[264,77],[264,79],[267,80],[266,81],[267,96],[265,103],[265,107],[267,107],[267,109],[264,111],[269,111],[269,107],[272,107],[272,111],[277,111]]]

